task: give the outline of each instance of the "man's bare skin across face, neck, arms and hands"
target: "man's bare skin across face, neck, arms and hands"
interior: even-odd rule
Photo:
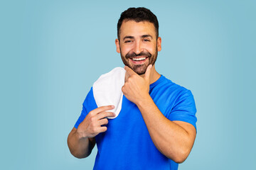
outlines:
[[[155,65],[152,66],[157,52],[161,51],[161,38],[156,38],[153,23],[147,21],[139,23],[123,21],[120,30],[120,39],[115,40],[117,52],[121,53],[123,62],[129,66],[124,67],[126,74],[122,92],[129,101],[138,106],[156,148],[174,162],[184,162],[193,147],[196,129],[190,123],[171,121],[164,117],[149,96],[149,84],[154,83],[161,76],[156,72]],[[131,69],[134,68],[134,63],[125,57],[129,52],[151,53],[151,58],[145,60],[139,68],[144,69],[145,74],[139,75]],[[114,116],[114,113],[107,112],[111,109],[112,106],[96,108],[88,113],[78,129],[71,130],[68,135],[71,154],[78,158],[90,155],[95,146],[95,136],[107,130],[106,127],[102,127],[107,125],[105,117]]]

